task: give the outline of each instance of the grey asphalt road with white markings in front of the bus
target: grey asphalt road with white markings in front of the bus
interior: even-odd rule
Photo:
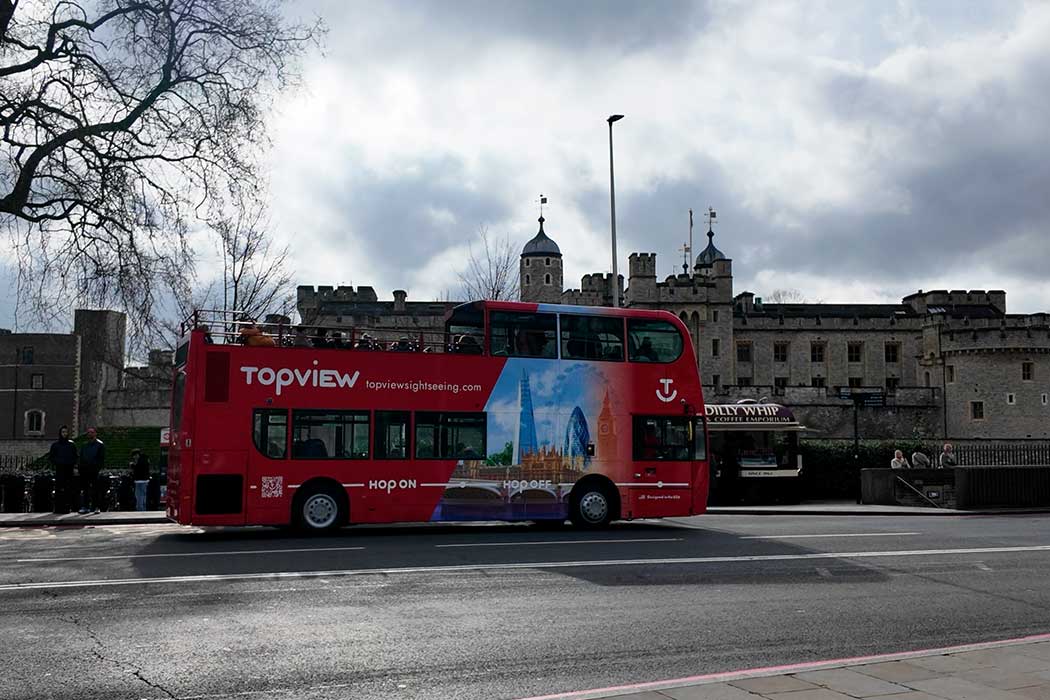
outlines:
[[[0,531],[0,698],[522,698],[1050,631],[1050,516]]]

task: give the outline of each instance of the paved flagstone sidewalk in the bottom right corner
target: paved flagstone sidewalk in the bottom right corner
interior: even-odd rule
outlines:
[[[1048,700],[1050,635],[527,700]]]

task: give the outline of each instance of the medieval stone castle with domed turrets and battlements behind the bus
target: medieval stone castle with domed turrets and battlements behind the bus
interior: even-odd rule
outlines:
[[[520,260],[521,298],[610,305],[611,275],[563,289],[561,249],[540,230]],[[764,303],[733,288],[733,260],[708,245],[690,271],[659,280],[654,253],[629,256],[628,307],[664,310],[690,330],[709,403],[770,399],[814,437],[853,434],[849,389],[881,391],[861,409],[866,438],[1050,438],[1050,315],[1008,314],[1003,291],[919,291],[901,303]],[[300,287],[304,322],[440,334],[453,303],[378,301],[372,288]]]

